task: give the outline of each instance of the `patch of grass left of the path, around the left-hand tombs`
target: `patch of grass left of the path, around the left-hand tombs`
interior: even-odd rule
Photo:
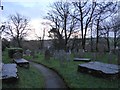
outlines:
[[[12,62],[7,56],[7,52],[3,53],[3,62]],[[17,68],[19,79],[15,83],[2,83],[2,88],[44,88],[43,76],[32,65],[30,65],[29,69]]]

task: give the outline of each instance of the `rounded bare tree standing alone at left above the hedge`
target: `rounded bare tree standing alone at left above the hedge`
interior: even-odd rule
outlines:
[[[22,47],[21,42],[27,36],[29,28],[29,20],[16,13],[9,16],[9,21],[6,26],[5,33],[16,41],[18,47]]]

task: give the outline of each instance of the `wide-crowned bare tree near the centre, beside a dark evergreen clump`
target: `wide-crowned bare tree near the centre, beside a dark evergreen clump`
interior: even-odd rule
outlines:
[[[77,24],[77,20],[70,15],[71,8],[68,2],[55,2],[51,13],[48,13],[48,19],[54,23],[50,32],[54,33],[57,38],[59,37],[60,42],[63,42],[63,49],[67,49],[69,39]]]

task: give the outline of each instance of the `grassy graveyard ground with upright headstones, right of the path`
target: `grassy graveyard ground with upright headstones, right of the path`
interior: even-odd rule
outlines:
[[[96,77],[91,74],[86,74],[78,71],[78,65],[86,63],[84,61],[74,61],[74,57],[76,55],[69,54],[66,55],[64,51],[55,51],[50,59],[45,59],[44,54],[37,53],[37,58],[26,57],[26,59],[32,60],[34,62],[43,64],[56,72],[58,72],[62,78],[65,80],[67,85],[70,88],[118,88],[120,78],[103,78],[103,77]],[[96,54],[94,56],[94,54]],[[77,55],[79,58],[80,56]],[[109,53],[105,54],[98,54],[92,52],[84,52],[84,58],[91,58],[91,61],[98,61],[103,63],[115,64],[117,65],[117,56]],[[110,57],[112,60],[109,61]],[[103,67],[104,68],[104,67]],[[120,72],[119,72],[120,73]],[[92,83],[92,85],[91,85]]]

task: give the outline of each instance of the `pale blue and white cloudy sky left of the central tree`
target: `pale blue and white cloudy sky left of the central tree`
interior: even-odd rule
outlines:
[[[4,10],[1,13],[1,21],[4,22],[8,19],[9,15],[20,13],[30,19],[30,24],[39,36],[42,36],[44,27],[41,26],[43,22],[43,17],[46,16],[49,10],[50,4],[55,0],[2,0],[1,4],[4,6]],[[32,31],[30,37],[27,39],[36,39],[34,36],[34,30]],[[46,39],[47,39],[46,33]]]

